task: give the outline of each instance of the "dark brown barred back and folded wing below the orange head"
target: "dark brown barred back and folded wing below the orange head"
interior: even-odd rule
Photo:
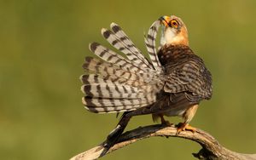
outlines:
[[[212,75],[188,46],[164,46],[159,54],[160,61],[166,64],[166,93],[186,92],[190,101],[211,99]]]

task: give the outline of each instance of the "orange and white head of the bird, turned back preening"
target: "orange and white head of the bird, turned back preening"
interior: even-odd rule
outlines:
[[[189,37],[183,20],[175,15],[160,17],[160,23],[164,26],[160,45],[177,45],[183,44],[189,46]]]

